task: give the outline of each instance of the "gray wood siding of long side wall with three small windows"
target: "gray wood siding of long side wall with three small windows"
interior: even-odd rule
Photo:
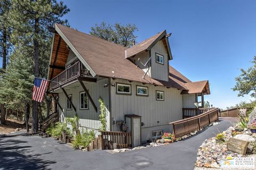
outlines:
[[[167,89],[162,86],[155,87],[153,84],[143,85],[140,82],[130,83],[123,79],[111,80],[111,83],[117,82],[131,84],[132,95],[117,95],[116,87],[111,87],[111,117],[116,121],[124,120],[125,114],[136,114],[142,116],[141,122],[145,123],[142,128],[147,128],[166,125],[182,118],[181,90]],[[136,85],[148,87],[149,96],[136,96]],[[156,90],[164,91],[164,101],[156,100]],[[119,127],[116,125],[112,128],[119,131]]]

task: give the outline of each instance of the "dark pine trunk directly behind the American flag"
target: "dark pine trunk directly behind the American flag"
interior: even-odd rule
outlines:
[[[39,75],[39,44],[38,44],[38,32],[39,32],[39,21],[35,19],[35,36],[34,36],[34,75],[38,77]],[[38,102],[33,101],[33,121],[32,121],[32,131],[38,131]]]

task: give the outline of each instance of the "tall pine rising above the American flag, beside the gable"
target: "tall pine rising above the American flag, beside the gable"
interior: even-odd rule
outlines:
[[[52,39],[48,27],[53,27],[54,23],[68,25],[67,20],[60,19],[68,12],[63,2],[55,0],[12,0],[9,14],[13,28],[11,38],[15,44],[32,49],[34,77],[46,77]],[[33,101],[33,132],[38,131],[38,106],[38,102]]]

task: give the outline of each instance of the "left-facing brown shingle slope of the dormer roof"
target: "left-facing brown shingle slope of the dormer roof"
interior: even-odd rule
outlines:
[[[125,56],[125,58],[129,58],[129,57],[131,57],[133,55],[136,55],[136,54],[138,54],[140,52],[145,51],[161,35],[166,35],[166,31],[164,30],[162,32],[159,32],[156,35],[154,35],[154,36],[152,36],[152,37],[142,41],[141,43],[139,43],[137,45],[134,45],[134,46],[132,46],[130,48],[127,48],[126,49],[126,56]]]

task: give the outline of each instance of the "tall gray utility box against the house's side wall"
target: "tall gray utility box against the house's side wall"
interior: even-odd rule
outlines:
[[[141,145],[141,116],[125,115],[127,132],[132,133],[132,147]]]

